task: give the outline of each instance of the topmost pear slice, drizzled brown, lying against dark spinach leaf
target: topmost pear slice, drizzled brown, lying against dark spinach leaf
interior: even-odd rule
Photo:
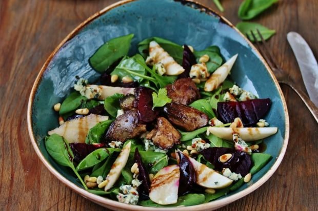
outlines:
[[[185,71],[156,41],[149,43],[149,56],[153,59],[154,64],[163,64],[166,75],[180,75]]]

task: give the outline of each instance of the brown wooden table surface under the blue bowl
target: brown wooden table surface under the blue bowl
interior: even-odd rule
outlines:
[[[102,210],[59,182],[37,158],[27,130],[27,102],[44,61],[79,23],[114,3],[106,0],[1,0],[0,2],[0,209]],[[214,8],[212,0],[199,1]],[[222,0],[224,16],[239,19],[241,1]],[[253,19],[275,29],[269,45],[279,65],[304,88],[286,34],[300,32],[318,55],[316,0],[281,0]],[[275,174],[252,194],[222,210],[314,210],[318,207],[318,124],[299,97],[282,87],[290,139]]]

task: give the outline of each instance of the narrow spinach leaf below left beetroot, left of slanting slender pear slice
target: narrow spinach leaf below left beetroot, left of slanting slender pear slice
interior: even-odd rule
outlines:
[[[114,148],[101,148],[88,154],[81,162],[76,166],[77,171],[83,171],[87,168],[93,167],[97,163],[105,160],[112,152],[120,151],[120,149]]]

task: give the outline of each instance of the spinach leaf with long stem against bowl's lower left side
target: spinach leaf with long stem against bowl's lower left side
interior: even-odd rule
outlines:
[[[87,189],[85,182],[75,170],[75,166],[73,164],[74,155],[67,140],[65,140],[62,136],[52,134],[45,138],[45,147],[55,162],[60,165],[72,168],[79,181],[81,181],[84,188]]]

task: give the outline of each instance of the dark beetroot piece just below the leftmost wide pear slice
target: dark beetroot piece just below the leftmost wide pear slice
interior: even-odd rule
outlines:
[[[105,147],[105,143],[86,144],[86,143],[70,143],[71,150],[74,155],[75,162],[81,162],[88,154],[94,150]]]

